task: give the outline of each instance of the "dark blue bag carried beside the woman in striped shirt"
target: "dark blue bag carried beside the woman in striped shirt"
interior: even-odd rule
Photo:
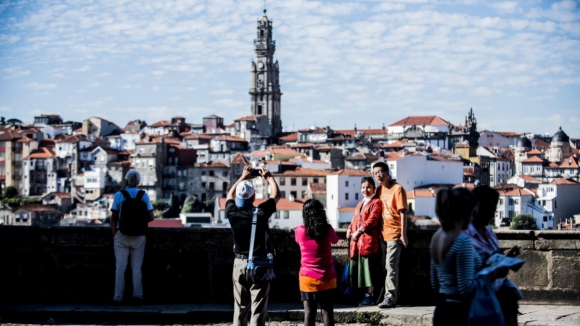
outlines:
[[[493,287],[486,277],[476,278],[476,288],[469,308],[469,326],[504,326],[504,317]]]

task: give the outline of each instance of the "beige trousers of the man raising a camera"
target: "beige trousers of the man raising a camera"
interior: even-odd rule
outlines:
[[[247,259],[234,260],[232,281],[234,283],[234,325],[248,325],[248,310],[252,310],[250,325],[266,325],[270,283],[251,284],[246,281]],[[250,308],[251,306],[251,308]]]

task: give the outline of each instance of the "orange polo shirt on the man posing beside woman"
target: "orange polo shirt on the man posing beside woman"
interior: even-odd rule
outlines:
[[[377,187],[377,197],[383,204],[381,235],[384,241],[396,241],[401,237],[401,211],[407,210],[407,193],[400,184],[391,188],[383,185]]]

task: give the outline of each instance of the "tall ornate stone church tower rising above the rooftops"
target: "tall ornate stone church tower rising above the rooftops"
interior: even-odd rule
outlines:
[[[272,40],[272,21],[268,20],[266,10],[258,20],[258,36],[254,40],[256,60],[252,60],[252,79],[250,86],[252,115],[268,117],[272,136],[282,132],[280,114],[280,92],[278,61],[274,61],[276,41]]]

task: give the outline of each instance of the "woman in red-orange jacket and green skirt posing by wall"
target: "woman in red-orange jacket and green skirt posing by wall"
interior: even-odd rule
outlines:
[[[346,232],[350,238],[349,276],[353,289],[364,289],[365,296],[359,306],[374,304],[373,291],[378,283],[381,270],[379,254],[379,221],[381,218],[381,200],[375,196],[375,182],[372,177],[361,180],[361,200],[355,208],[354,217]]]

